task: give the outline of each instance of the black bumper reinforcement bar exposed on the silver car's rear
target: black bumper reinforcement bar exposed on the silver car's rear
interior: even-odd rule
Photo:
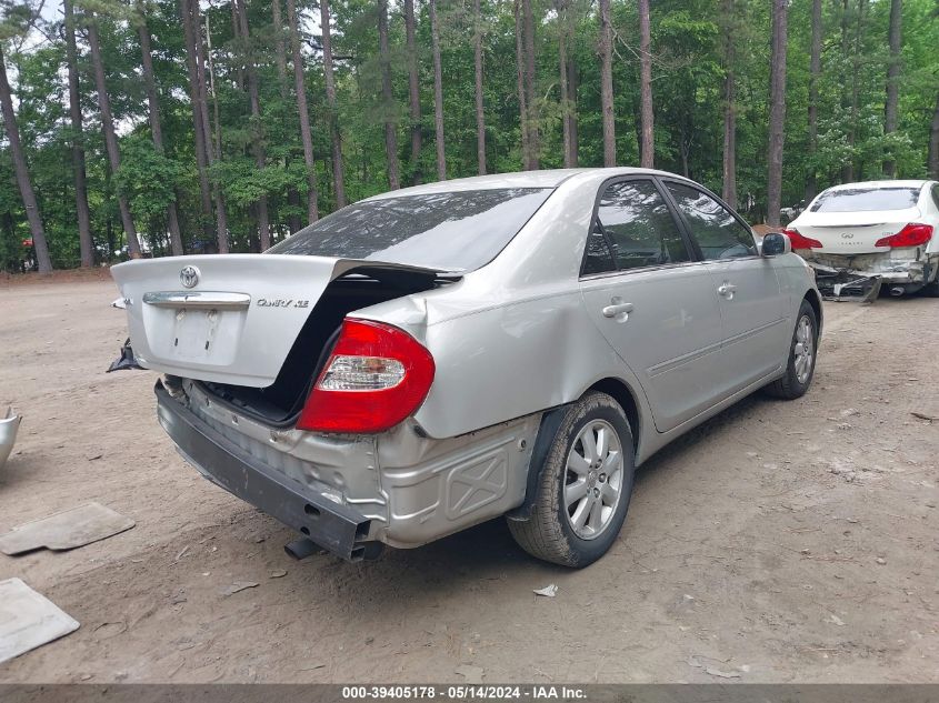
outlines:
[[[279,473],[206,424],[158,382],[157,414],[183,458],[212,483],[348,561],[378,555],[370,520]]]

